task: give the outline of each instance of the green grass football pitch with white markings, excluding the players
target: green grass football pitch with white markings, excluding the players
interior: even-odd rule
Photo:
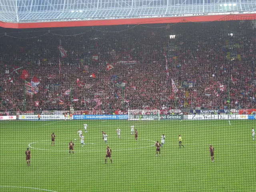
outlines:
[[[138,142],[131,125],[138,130]],[[256,187],[252,127],[253,120],[1,121],[0,191],[252,192]],[[78,129],[85,136],[84,147]],[[102,130],[108,135],[107,144]],[[154,144],[161,142],[162,134],[165,144],[161,156],[156,156]],[[185,148],[179,149],[179,134]],[[69,154],[70,140],[74,155]],[[209,144],[215,149],[215,162]],[[109,158],[105,164],[107,145],[112,164]],[[28,147],[31,166],[26,164]]]

